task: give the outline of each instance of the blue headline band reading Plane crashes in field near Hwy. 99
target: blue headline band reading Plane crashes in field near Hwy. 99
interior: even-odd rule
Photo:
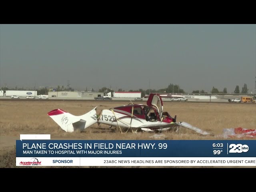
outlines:
[[[16,157],[255,157],[256,140],[16,140]]]

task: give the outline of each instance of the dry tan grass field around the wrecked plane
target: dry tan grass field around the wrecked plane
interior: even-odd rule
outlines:
[[[0,167],[16,167],[14,148],[20,134],[51,134],[51,139],[64,140],[150,140],[152,133],[121,134],[118,129],[109,129],[106,125],[97,124],[84,132],[66,133],[47,115],[56,108],[74,115],[82,115],[96,106],[97,112],[100,112],[105,108],[128,103],[130,102],[0,100]],[[141,103],[146,104],[146,101]],[[164,111],[169,112],[171,116],[177,115],[178,122],[187,122],[214,134],[202,136],[182,128],[178,133],[164,132],[168,140],[222,140],[224,128],[256,128],[256,104],[164,102]],[[10,162],[12,160],[13,162]]]

